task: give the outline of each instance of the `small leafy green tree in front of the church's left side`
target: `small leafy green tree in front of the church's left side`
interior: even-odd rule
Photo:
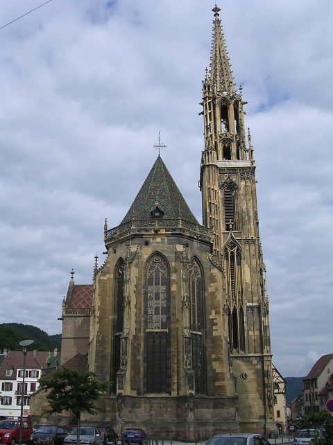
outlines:
[[[81,412],[96,414],[99,408],[95,402],[101,398],[111,382],[99,382],[97,375],[90,371],[76,371],[75,369],[58,369],[48,379],[40,380],[40,389],[49,391],[46,398],[50,410],[46,413],[61,413],[70,410],[76,416],[76,442],[80,437]]]

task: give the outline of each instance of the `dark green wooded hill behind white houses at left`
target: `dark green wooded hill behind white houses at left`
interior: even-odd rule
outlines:
[[[61,334],[49,335],[39,327],[24,325],[22,323],[0,324],[0,350],[22,350],[19,342],[33,340],[34,343],[27,350],[53,350],[61,346]]]

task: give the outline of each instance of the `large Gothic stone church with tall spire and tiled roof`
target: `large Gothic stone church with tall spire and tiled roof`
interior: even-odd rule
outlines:
[[[219,11],[200,102],[202,224],[158,154],[119,225],[105,220],[93,284],[72,272],[62,302],[62,364],[87,355],[89,371],[112,381],[95,419],[117,431],[275,430],[255,160]]]

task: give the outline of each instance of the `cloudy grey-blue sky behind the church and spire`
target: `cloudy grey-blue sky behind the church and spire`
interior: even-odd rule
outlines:
[[[0,28],[44,3],[0,3]],[[220,0],[257,163],[273,362],[333,353],[333,2]],[[0,29],[0,322],[61,332],[162,158],[199,221],[210,0],[52,0]]]

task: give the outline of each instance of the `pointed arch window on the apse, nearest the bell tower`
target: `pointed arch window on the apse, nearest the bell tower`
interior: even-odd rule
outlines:
[[[189,264],[189,313],[191,331],[192,369],[194,371],[196,394],[205,393],[205,366],[203,353],[203,275],[198,262]]]

